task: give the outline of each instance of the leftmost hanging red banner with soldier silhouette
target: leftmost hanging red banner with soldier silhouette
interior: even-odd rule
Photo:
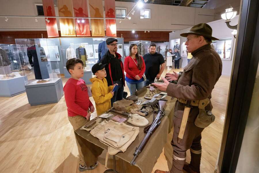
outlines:
[[[56,16],[53,0],[42,0],[44,16]],[[49,38],[59,37],[56,18],[45,18]]]

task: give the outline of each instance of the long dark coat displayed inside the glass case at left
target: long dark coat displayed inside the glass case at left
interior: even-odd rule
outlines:
[[[35,79],[43,80],[49,78],[49,72],[47,69],[48,61],[44,49],[37,45],[28,47],[27,56],[29,58],[29,63],[34,69]]]

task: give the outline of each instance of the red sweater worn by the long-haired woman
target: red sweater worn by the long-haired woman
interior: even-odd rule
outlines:
[[[141,57],[141,56],[140,56]],[[124,60],[124,70],[126,72],[126,76],[127,78],[135,79],[135,76],[138,75],[140,78],[142,78],[145,70],[146,70],[146,65],[145,65],[145,61],[143,59],[143,57],[141,57],[143,64],[142,67],[139,71],[138,66],[136,64],[137,63],[137,59],[132,59],[130,56],[127,56]],[[136,64],[134,63],[134,61],[136,62]]]

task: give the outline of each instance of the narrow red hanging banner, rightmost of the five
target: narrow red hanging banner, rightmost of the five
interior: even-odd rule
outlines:
[[[116,18],[115,16],[115,0],[104,0],[105,18]],[[116,34],[116,20],[105,19],[106,22],[106,36],[117,37]]]

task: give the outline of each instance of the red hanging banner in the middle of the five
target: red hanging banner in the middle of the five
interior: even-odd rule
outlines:
[[[87,1],[86,0],[73,0],[75,27],[77,36],[91,36],[89,19],[82,19],[80,17],[88,17]]]

